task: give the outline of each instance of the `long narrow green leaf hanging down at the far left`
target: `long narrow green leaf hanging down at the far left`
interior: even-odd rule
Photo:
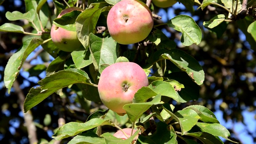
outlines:
[[[12,84],[14,80],[16,80],[26,58],[34,49],[40,46],[42,42],[43,40],[38,37],[28,38],[23,42],[22,48],[18,49],[16,53],[10,57],[4,69],[4,84],[6,88],[8,88],[8,93],[10,93]]]

